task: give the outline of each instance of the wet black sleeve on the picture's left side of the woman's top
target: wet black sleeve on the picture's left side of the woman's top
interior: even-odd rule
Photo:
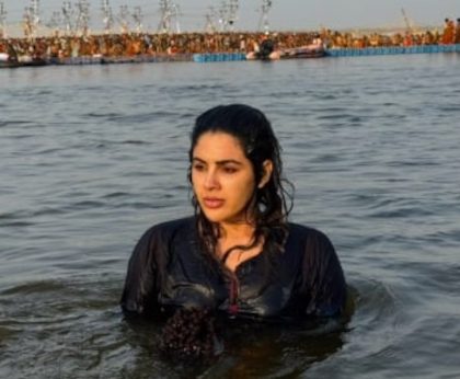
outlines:
[[[125,313],[147,313],[157,307],[159,266],[164,244],[156,228],[149,229],[136,244],[128,264],[122,309]]]

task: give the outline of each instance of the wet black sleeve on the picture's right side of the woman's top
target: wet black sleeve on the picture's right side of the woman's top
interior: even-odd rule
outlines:
[[[308,315],[340,315],[346,301],[346,283],[335,249],[329,238],[313,231],[308,236],[301,267],[300,292]]]

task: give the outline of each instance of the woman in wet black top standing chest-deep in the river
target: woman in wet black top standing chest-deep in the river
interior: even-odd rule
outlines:
[[[338,317],[344,274],[329,238],[288,221],[280,148],[265,115],[216,106],[191,136],[194,215],[153,226],[129,261],[125,313],[200,309],[302,322]]]

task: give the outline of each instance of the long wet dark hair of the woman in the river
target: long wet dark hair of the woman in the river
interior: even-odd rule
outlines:
[[[219,105],[198,116],[192,130],[188,151],[191,163],[188,180],[192,185],[193,151],[199,137],[206,133],[226,133],[237,138],[245,157],[252,163],[256,183],[252,199],[249,202],[254,204],[254,208],[251,209],[255,211],[253,242],[250,245],[232,246],[225,252],[221,261],[225,262],[231,251],[249,250],[261,241],[264,241],[264,251],[268,253],[264,255],[272,261],[277,252],[283,251],[287,238],[287,216],[292,208],[294,186],[283,177],[280,147],[271,123],[261,111],[244,104]],[[268,182],[258,188],[257,183],[264,176],[266,160],[272,161],[273,172]],[[288,184],[291,192],[286,191],[284,184]],[[192,197],[192,204],[202,248],[214,256],[220,237],[219,227],[206,218],[195,196]]]

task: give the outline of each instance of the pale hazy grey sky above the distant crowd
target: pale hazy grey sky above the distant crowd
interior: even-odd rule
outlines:
[[[68,0],[67,0],[68,1]],[[102,30],[102,0],[88,0],[91,25]],[[160,22],[159,0],[108,0],[114,14],[120,5],[142,9],[143,26],[156,31]],[[181,11],[181,31],[203,31],[205,14],[209,7],[219,9],[222,0],[172,0]],[[228,1],[228,0],[227,0]],[[70,0],[72,4],[77,0]],[[22,20],[25,7],[31,0],[0,0],[8,12],[7,25]],[[64,0],[39,0],[41,20],[51,19],[59,11]],[[404,26],[404,9],[412,26],[441,26],[445,18],[460,18],[460,0],[272,0],[268,13],[272,31],[367,28]],[[260,24],[262,0],[239,0],[235,30],[255,31]],[[1,5],[0,5],[1,7]]]

